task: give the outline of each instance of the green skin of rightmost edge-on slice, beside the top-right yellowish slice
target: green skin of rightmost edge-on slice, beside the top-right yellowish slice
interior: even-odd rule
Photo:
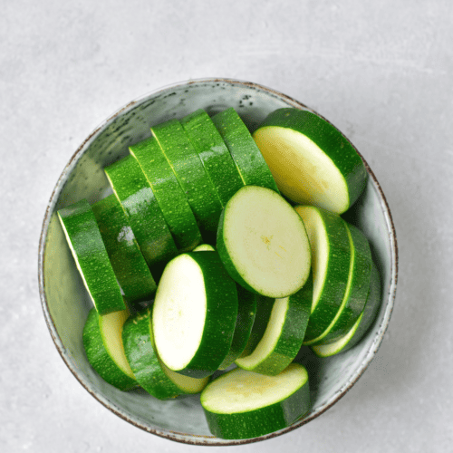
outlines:
[[[279,194],[280,191],[265,163],[265,158],[235,109],[230,107],[226,111],[220,111],[212,117],[212,120],[225,141],[244,184],[271,188]]]

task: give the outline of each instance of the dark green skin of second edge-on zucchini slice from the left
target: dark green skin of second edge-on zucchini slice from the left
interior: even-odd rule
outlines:
[[[157,284],[118,199],[114,195],[103,198],[92,205],[92,212],[126,301],[132,304],[151,299]]]

